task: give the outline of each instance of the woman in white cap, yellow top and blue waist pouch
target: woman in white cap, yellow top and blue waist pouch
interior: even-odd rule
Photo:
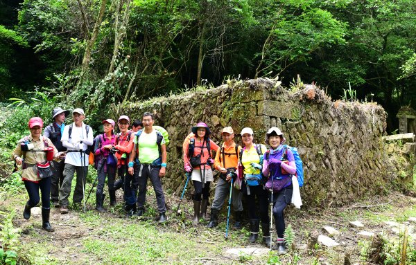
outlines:
[[[270,246],[270,219],[268,216],[268,192],[263,188],[261,174],[265,145],[253,142],[254,132],[245,127],[241,130],[243,149],[240,153],[240,162],[243,165],[243,185],[241,191],[247,196],[248,217],[250,219],[250,243],[255,243],[259,236],[259,222],[263,231],[263,243]],[[257,201],[257,203],[256,203]],[[257,216],[259,210],[260,220]]]

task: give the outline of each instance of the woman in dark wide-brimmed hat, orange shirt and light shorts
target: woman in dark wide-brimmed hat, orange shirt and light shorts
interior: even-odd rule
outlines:
[[[191,173],[191,180],[195,194],[193,194],[194,225],[199,223],[200,217],[205,219],[209,199],[209,185],[214,181],[211,165],[214,159],[211,150],[217,151],[218,145],[209,139],[211,131],[205,122],[199,122],[192,127],[192,134],[184,140],[184,170]]]

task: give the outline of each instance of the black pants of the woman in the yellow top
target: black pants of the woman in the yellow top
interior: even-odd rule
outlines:
[[[257,216],[257,210],[259,210],[261,223],[269,223],[268,205],[268,191],[263,190],[263,185],[250,186],[250,195],[247,195],[248,217],[259,219]]]

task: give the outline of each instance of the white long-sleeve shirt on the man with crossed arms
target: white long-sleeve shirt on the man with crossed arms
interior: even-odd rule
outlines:
[[[85,151],[87,149],[87,145],[92,145],[94,142],[94,136],[92,133],[92,128],[89,127],[88,135],[85,129],[85,123],[81,127],[76,127],[75,123],[72,123],[72,132],[71,138],[69,138],[69,125],[64,127],[64,134],[62,134],[62,145],[67,147],[68,151],[79,151],[83,149]],[[80,140],[83,143],[80,143]],[[77,167],[81,167],[81,154],[84,157],[84,165],[88,165],[88,156],[85,153],[80,152],[68,152],[67,156],[65,157],[65,164],[75,165]]]

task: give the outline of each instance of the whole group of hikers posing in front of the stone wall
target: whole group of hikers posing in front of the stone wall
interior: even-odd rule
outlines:
[[[73,109],[73,123],[65,125],[64,121],[69,113],[70,111],[60,107],[53,109],[53,122],[45,127],[43,136],[43,120],[39,117],[31,118],[28,121],[31,134],[21,138],[12,153],[15,163],[21,165],[21,177],[29,197],[24,206],[24,219],[31,217],[31,208],[42,199],[42,228],[53,231],[49,222],[51,205],[60,208],[62,214],[69,211],[69,195],[75,172],[73,205],[82,207],[81,203],[84,202],[85,207],[88,165],[94,162],[97,170],[98,212],[105,212],[103,201],[107,179],[110,205],[116,205],[116,190],[123,188],[126,214],[140,217],[146,210],[147,182],[150,179],[157,201],[157,221],[166,222],[166,203],[161,179],[166,174],[168,137],[165,137],[166,130],[153,125],[153,113],[145,112],[141,120],[132,122],[130,130],[130,118],[120,116],[117,120],[118,134],[114,134],[114,120],[103,120],[103,134],[98,134],[95,138],[92,128],[83,122],[83,109]],[[284,209],[293,201],[300,204],[300,194],[295,176],[295,158],[291,149],[283,145],[286,140],[284,134],[277,127],[271,127],[266,133],[269,149],[266,145],[254,143],[254,132],[249,127],[241,131],[242,146],[234,142],[232,127],[222,129],[223,143],[220,146],[211,140],[210,135],[207,124],[199,122],[192,127],[183,143],[185,176],[188,181],[192,181],[194,188],[193,224],[198,224],[207,214],[214,168],[219,173],[219,178],[216,181],[207,227],[214,228],[218,225],[218,214],[229,197],[229,208],[231,202],[234,208],[234,229],[241,229],[242,201],[245,197],[250,221],[250,243],[257,241],[261,224],[262,242],[271,247],[272,222],[268,213],[270,205],[277,231],[277,249],[279,253],[285,253]],[[211,151],[216,152],[214,158]]]

